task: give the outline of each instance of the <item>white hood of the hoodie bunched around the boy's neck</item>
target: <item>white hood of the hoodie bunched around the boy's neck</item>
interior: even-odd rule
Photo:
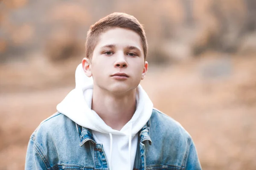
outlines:
[[[125,133],[132,123],[131,133],[134,136],[148,122],[153,103],[149,99],[141,85],[137,87],[137,107],[131,120],[119,131],[114,130],[91,110],[93,96],[93,78],[84,74],[82,65],[76,68],[76,88],[70,91],[64,100],[57,105],[57,111],[66,115],[78,125],[101,133],[127,134]]]

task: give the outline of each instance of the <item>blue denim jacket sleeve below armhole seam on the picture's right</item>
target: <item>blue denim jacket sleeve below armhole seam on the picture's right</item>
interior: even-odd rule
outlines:
[[[198,159],[198,154],[195,148],[195,144],[192,139],[187,155],[185,170],[202,170],[201,164]]]

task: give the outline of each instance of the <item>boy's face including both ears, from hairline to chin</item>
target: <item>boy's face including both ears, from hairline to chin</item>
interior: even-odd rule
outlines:
[[[82,64],[87,76],[93,76],[94,86],[113,93],[137,88],[148,71],[140,36],[125,28],[102,33],[92,58],[84,58]]]

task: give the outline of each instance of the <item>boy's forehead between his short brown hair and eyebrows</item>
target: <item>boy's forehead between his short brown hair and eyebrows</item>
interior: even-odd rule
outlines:
[[[136,46],[140,50],[143,49],[140,36],[135,31],[126,28],[111,28],[102,33],[96,48],[109,44],[115,44],[117,47]]]

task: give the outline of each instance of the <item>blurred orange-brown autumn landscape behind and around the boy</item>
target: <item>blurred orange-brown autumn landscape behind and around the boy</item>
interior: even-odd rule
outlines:
[[[75,87],[89,26],[134,15],[141,82],[192,135],[204,170],[256,170],[256,0],[0,0],[0,170],[24,169],[29,136]]]

